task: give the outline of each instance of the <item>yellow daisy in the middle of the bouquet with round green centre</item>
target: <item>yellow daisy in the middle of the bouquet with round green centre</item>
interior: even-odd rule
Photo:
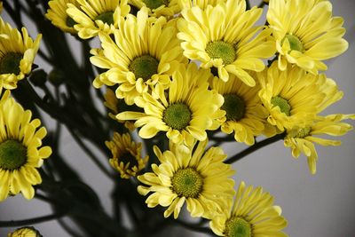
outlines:
[[[166,131],[172,142],[186,146],[191,146],[195,138],[205,140],[206,130],[216,130],[217,119],[225,115],[219,110],[223,97],[208,89],[211,76],[195,64],[181,67],[172,75],[167,94],[157,85],[154,96],[145,92],[135,100],[145,113],[123,112],[117,119],[137,120],[136,127],[142,127],[138,133],[141,138],[153,138],[159,131]]]

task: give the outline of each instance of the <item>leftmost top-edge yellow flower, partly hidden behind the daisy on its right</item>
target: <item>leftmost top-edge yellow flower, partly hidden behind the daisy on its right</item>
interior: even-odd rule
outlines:
[[[48,2],[50,8],[45,16],[48,20],[51,20],[51,24],[57,28],[68,33],[76,34],[77,32],[74,28],[76,22],[67,14],[67,4],[78,6],[76,0],[51,0]]]

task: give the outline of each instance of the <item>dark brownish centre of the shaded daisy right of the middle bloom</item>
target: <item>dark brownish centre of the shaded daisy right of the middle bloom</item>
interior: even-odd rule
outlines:
[[[245,113],[245,102],[236,94],[226,94],[223,96],[225,103],[221,107],[225,110],[227,121],[239,121]]]

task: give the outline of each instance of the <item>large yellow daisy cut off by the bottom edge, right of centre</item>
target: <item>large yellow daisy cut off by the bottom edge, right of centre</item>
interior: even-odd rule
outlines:
[[[281,216],[281,208],[273,206],[273,197],[262,187],[245,186],[241,182],[231,203],[222,215],[212,218],[212,231],[225,237],[287,237],[281,230],[287,221]]]

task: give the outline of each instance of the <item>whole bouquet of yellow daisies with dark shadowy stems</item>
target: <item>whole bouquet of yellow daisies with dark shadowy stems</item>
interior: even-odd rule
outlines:
[[[340,145],[323,135],[352,129],[343,121],[355,115],[323,115],[343,97],[324,60],[348,48],[343,19],[327,0],[3,6],[17,28],[0,18],[0,201],[22,194],[53,209],[1,220],[16,227],[9,237],[42,236],[36,224],[51,219],[71,236],[160,236],[172,226],[288,236],[272,194],[235,184],[231,164],[283,140],[315,174],[315,145]],[[35,40],[24,19],[35,24]],[[34,63],[37,54],[43,65]],[[55,121],[48,132],[47,115]],[[64,159],[64,127],[112,179],[112,215]],[[228,156],[225,142],[248,148]]]

